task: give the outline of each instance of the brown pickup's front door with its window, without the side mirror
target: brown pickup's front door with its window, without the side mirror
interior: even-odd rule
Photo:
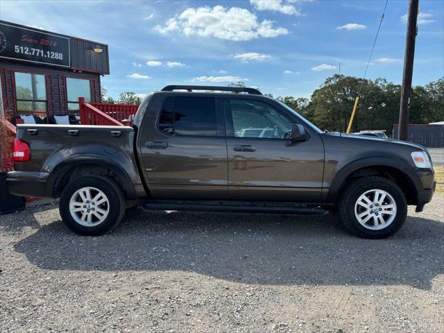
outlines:
[[[324,146],[296,115],[255,99],[225,99],[228,196],[241,200],[313,202],[321,199]],[[288,144],[292,123],[309,131]]]

